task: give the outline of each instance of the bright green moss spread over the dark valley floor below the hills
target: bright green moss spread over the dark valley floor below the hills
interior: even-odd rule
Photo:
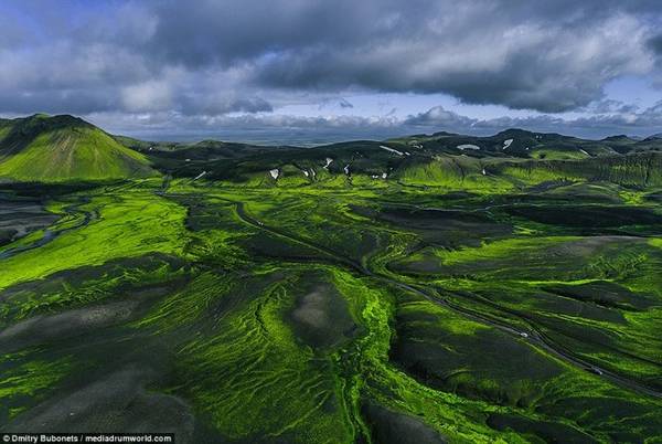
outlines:
[[[145,306],[129,320],[86,331],[98,356],[73,356],[73,367],[63,366],[65,373],[86,359],[94,359],[103,373],[105,347],[109,356],[129,357],[136,366],[143,364],[136,358],[142,347],[150,360],[166,356],[153,366],[163,373],[150,392],[181,398],[214,438],[374,442],[375,425],[364,411],[369,402],[458,443],[538,442],[547,436],[534,425],[560,433],[554,435],[560,441],[566,432],[604,442],[632,441],[624,435],[632,431],[636,437],[654,435],[661,426],[654,417],[659,401],[560,359],[517,331],[535,329],[587,366],[654,385],[662,244],[645,234],[623,235],[619,226],[587,235],[583,229],[524,216],[514,221],[503,208],[530,197],[514,190],[548,178],[546,173],[534,171],[530,180],[504,173],[500,162],[457,161],[465,169],[461,179],[449,160],[377,182],[364,175],[350,179],[323,171],[308,181],[299,169],[284,167],[278,181],[268,172],[255,173],[247,183],[175,179],[170,195],[160,195],[154,193],[160,181],[147,179],[51,202],[49,208],[63,214],[52,229],[68,231],[2,261],[0,287],[8,294],[17,292],[18,283],[49,282],[57,272],[148,253],[167,253],[186,265],[150,268],[148,274],[135,265],[118,277],[74,282],[28,298],[12,296],[7,300],[15,304],[6,304],[0,316],[7,325],[110,297],[140,298]],[[554,180],[563,176],[549,175]],[[426,181],[434,191],[423,188]],[[552,202],[554,208],[559,201],[596,200],[592,204],[599,205],[599,198],[622,198],[617,186],[580,184],[554,182],[554,191],[543,189],[530,198],[535,205]],[[398,220],[405,212],[394,212],[387,220],[381,213],[398,204],[451,211],[437,219],[427,213]],[[247,221],[239,205],[258,222]],[[84,212],[90,221],[77,226]],[[405,266],[427,260],[438,268],[421,273]],[[431,300],[396,283],[423,288]],[[609,306],[611,299],[590,299],[595,295],[588,294],[585,300],[585,294],[558,289],[604,283],[616,285],[613,292],[622,292],[626,303],[642,298],[641,304]],[[346,304],[353,323],[340,340],[323,347],[301,335],[292,320],[313,284],[333,288],[335,306]],[[160,289],[149,297],[134,293],[152,285]],[[323,319],[322,311],[323,305],[313,304],[317,319]],[[491,320],[511,330],[502,331]],[[440,362],[458,359],[461,371],[426,378],[423,363],[412,369],[396,359],[404,338],[421,347],[413,349],[413,360],[441,353],[447,359]],[[61,339],[41,347],[57,351],[75,342]],[[481,348],[493,343],[498,347]],[[488,366],[477,362],[494,350],[502,356],[488,373]],[[40,357],[34,362],[47,361]],[[17,369],[8,372],[19,378],[10,379],[8,397],[46,395],[64,378],[22,382],[26,377]],[[528,370],[540,379],[522,377]],[[9,409],[7,417],[25,411],[18,403]],[[492,422],[496,413],[528,421],[528,431],[499,430]]]

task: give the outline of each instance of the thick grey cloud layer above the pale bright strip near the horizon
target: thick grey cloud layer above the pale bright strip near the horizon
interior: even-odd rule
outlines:
[[[0,7],[0,112],[43,103],[54,112],[214,116],[269,112],[286,95],[314,102],[367,91],[557,113],[602,99],[612,80],[651,75],[661,46],[659,1],[50,6]]]

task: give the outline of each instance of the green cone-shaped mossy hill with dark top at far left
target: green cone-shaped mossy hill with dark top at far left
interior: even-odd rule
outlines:
[[[156,175],[145,156],[73,116],[0,121],[0,181],[96,181]]]

